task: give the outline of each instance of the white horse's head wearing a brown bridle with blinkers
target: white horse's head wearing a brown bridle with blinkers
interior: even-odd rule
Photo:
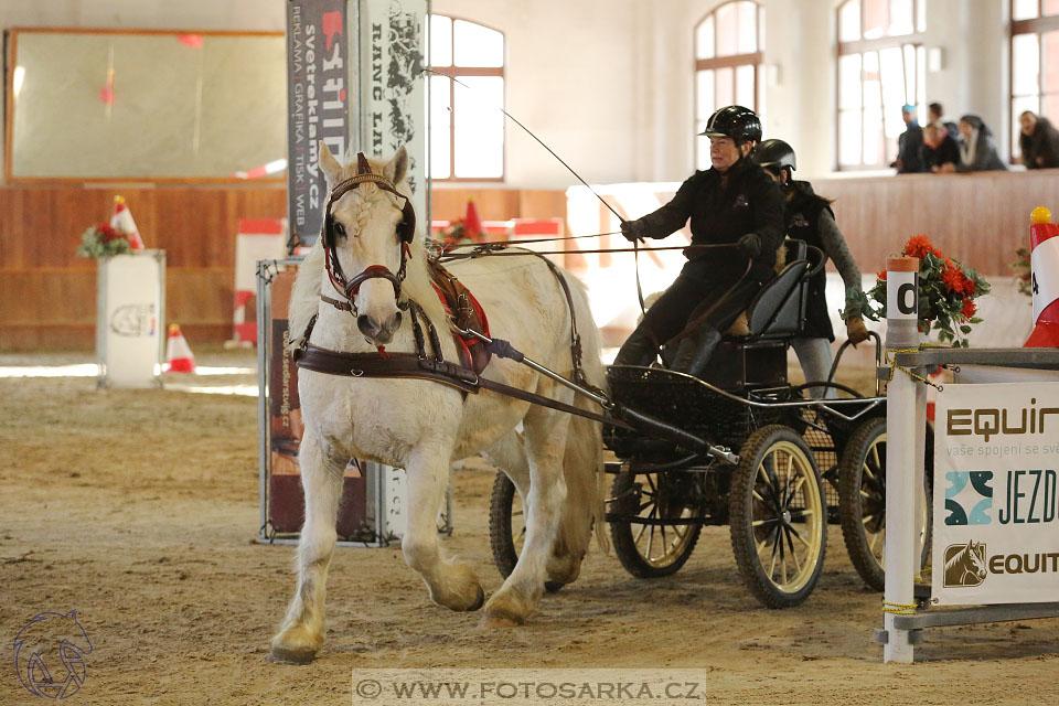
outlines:
[[[331,195],[324,221],[328,278],[347,300],[372,345],[389,343],[400,325],[400,285],[415,239],[415,212],[404,147],[388,162],[357,156],[340,164],[320,142],[320,169]],[[327,282],[324,282],[327,285]]]

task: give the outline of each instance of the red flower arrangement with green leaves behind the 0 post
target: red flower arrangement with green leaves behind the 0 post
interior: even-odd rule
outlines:
[[[974,299],[988,293],[990,284],[959,260],[946,257],[926,235],[908,239],[901,255],[919,258],[919,330],[938,331],[938,340],[953,346],[967,346],[971,325],[981,323],[975,317]],[[886,317],[886,271],[867,292],[853,292],[851,308],[873,321]]]

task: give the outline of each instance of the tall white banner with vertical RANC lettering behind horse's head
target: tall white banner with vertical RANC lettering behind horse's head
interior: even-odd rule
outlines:
[[[416,217],[427,211],[427,0],[361,0],[361,150],[389,159],[408,150],[408,185]],[[333,150],[332,150],[333,151]]]

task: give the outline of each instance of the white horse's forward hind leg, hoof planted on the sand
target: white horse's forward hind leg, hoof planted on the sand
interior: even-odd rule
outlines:
[[[511,576],[485,603],[481,621],[484,628],[522,624],[536,610],[544,593],[566,500],[563,456],[569,429],[568,416],[543,407],[533,408],[524,424],[531,479],[526,498],[526,541]]]

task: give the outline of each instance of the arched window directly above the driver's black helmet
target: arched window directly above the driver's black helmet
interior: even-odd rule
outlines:
[[[718,7],[695,26],[695,133],[717,108],[740,105],[761,115],[764,10],[751,0]],[[698,169],[709,168],[709,142],[696,142]]]

